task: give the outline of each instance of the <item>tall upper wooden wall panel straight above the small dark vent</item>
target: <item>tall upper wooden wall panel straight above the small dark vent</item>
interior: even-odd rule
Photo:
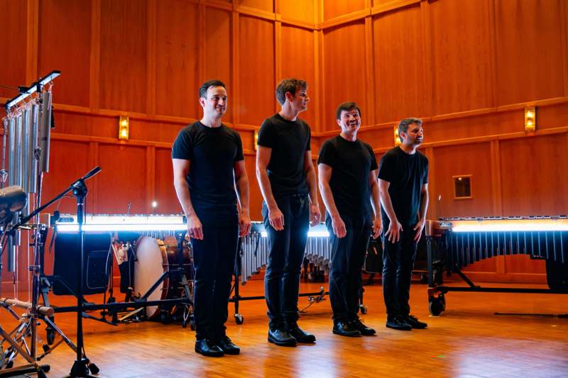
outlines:
[[[435,1],[429,4],[433,113],[490,107],[493,103],[493,57],[489,1]]]

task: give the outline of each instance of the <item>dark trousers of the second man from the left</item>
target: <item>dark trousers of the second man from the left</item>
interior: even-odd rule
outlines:
[[[284,230],[275,230],[268,221],[263,203],[262,215],[268,236],[268,267],[264,275],[264,295],[268,306],[269,326],[285,328],[300,318],[297,296],[300,272],[310,228],[310,202],[307,195],[277,199],[284,215]]]

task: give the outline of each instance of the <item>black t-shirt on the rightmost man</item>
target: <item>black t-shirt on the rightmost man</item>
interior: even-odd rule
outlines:
[[[391,195],[396,218],[403,226],[413,226],[418,221],[422,185],[428,182],[428,158],[416,151],[413,155],[395,147],[388,150],[378,166],[378,178],[391,183]],[[383,226],[390,221],[381,206]]]

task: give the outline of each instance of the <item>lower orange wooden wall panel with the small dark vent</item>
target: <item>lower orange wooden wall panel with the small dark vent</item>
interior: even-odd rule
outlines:
[[[438,216],[493,216],[490,144],[439,147],[434,156],[436,169],[430,180],[436,182],[436,193],[430,192],[430,206],[439,207]],[[471,174],[472,199],[454,199],[452,177],[461,174]]]

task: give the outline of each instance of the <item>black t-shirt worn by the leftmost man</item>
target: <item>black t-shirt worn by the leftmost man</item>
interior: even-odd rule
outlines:
[[[200,121],[183,128],[175,138],[173,159],[190,160],[187,185],[197,216],[235,213],[234,164],[243,157],[239,133],[225,125],[209,128]]]

